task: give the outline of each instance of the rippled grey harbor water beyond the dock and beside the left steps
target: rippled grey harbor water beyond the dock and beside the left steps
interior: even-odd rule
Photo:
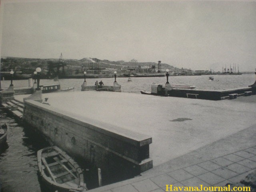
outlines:
[[[234,76],[214,75],[214,80],[208,80],[209,76],[170,76],[171,84],[194,85],[197,89],[225,90],[229,88],[247,87],[255,81],[254,74],[242,74]],[[112,85],[113,78],[86,79],[88,85],[94,85],[96,80],[102,80],[105,85]],[[122,86],[122,92],[132,92],[140,94],[140,90],[150,90],[150,84],[165,83],[166,77],[154,78],[117,78],[117,82]],[[75,87],[80,91],[83,79],[60,79],[62,88]],[[10,81],[2,81],[2,88],[8,87]],[[40,80],[40,84],[53,84],[53,80]],[[15,80],[14,86],[27,86],[28,80]],[[7,143],[0,146],[0,183],[4,192],[40,192],[44,187],[38,181],[38,167],[36,152],[48,146],[41,138],[31,134],[26,127],[22,127],[14,119],[2,112],[0,124],[6,123],[9,128]],[[86,169],[86,167],[83,167]],[[94,173],[87,175],[91,177],[89,182],[91,188],[95,187]]]

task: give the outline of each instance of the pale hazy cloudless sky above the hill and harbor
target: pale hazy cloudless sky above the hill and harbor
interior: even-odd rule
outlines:
[[[256,2],[2,0],[1,56],[256,68]]]

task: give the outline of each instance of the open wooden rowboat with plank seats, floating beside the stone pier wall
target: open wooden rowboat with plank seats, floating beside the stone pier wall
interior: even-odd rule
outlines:
[[[58,192],[87,190],[81,168],[60,148],[53,146],[37,152],[38,169],[43,180]]]

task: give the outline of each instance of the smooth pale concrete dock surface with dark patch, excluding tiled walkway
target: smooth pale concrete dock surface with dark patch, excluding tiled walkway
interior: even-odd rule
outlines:
[[[15,96],[19,98],[22,96]],[[113,92],[43,94],[72,118],[97,120],[152,137],[154,166],[255,124],[256,103],[194,100]],[[251,96],[255,97],[255,96]],[[249,98],[249,97],[248,97]],[[43,98],[44,100],[44,98]],[[87,122],[90,123],[90,122]]]

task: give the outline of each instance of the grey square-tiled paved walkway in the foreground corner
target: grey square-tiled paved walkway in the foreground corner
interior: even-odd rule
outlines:
[[[141,176],[91,192],[163,192],[173,186],[225,186],[256,170],[256,124]]]

